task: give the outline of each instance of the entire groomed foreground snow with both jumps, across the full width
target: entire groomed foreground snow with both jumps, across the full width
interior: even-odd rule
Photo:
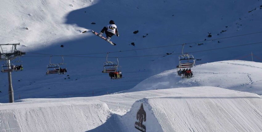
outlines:
[[[143,122],[146,131],[262,129],[259,95],[219,87],[23,101],[26,102],[1,104],[2,131],[64,131],[65,127],[72,131],[138,131],[134,125],[141,103],[146,112],[146,121]],[[118,115],[121,112],[123,115]],[[8,125],[10,121],[12,125]]]

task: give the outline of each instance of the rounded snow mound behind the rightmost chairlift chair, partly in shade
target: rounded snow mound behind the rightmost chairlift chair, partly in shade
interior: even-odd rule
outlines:
[[[168,70],[137,84],[128,90],[145,91],[177,87],[213,86],[262,94],[262,63],[227,60],[200,64],[192,68],[194,77],[182,79],[177,70]]]

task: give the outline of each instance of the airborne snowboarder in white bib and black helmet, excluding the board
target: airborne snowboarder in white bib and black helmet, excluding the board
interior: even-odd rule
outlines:
[[[115,25],[115,22],[113,21],[113,20],[110,20],[109,21],[109,25],[107,25],[107,27],[104,27],[102,30],[101,30],[101,32],[99,33],[99,37],[101,37],[102,36],[102,34],[105,32],[105,34],[106,34],[106,37],[107,37],[107,39],[106,39],[106,41],[110,41],[110,39],[111,39],[111,37],[113,36],[113,35],[117,35],[117,37],[119,36],[119,34],[118,34],[118,30],[117,30],[117,25]]]

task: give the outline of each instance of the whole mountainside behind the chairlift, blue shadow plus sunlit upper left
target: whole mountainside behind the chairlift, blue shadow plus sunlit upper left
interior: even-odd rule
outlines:
[[[15,100],[20,97],[21,99],[83,97],[93,96],[93,93],[96,96],[125,91],[150,76],[174,69],[178,64],[178,55],[119,58],[125,78],[110,80],[107,74],[101,73],[106,52],[183,44],[204,39],[207,41],[203,42],[203,45],[186,45],[184,52],[260,42],[262,41],[261,34],[217,40],[220,43],[208,41],[214,38],[259,32],[262,27],[260,5],[262,5],[261,1],[257,0],[219,2],[207,0],[195,2],[188,0],[60,0],[55,2],[4,0],[0,5],[1,43],[20,42],[18,49],[27,52],[27,55],[21,58],[24,71],[15,72],[12,75]],[[249,12],[251,10],[253,11]],[[91,29],[101,30],[111,19],[116,22],[120,33],[120,37],[112,37],[112,41],[117,43],[117,46],[109,45],[90,33]],[[91,24],[92,22],[96,24]],[[25,27],[28,27],[28,30]],[[82,33],[84,30],[88,32]],[[136,30],[139,32],[133,34]],[[220,33],[222,30],[227,31]],[[212,34],[211,38],[207,37],[208,32]],[[130,45],[131,42],[134,42],[135,46]],[[61,48],[60,45],[64,47]],[[109,56],[181,53],[181,49],[182,46],[179,45],[117,52]],[[197,52],[193,55],[196,59],[201,59],[197,61],[197,64],[200,64],[232,60],[253,52],[256,55],[254,61],[261,62],[260,49],[261,45],[257,44]],[[104,54],[75,55],[101,52]],[[72,55],[64,56],[69,76],[45,76],[50,55]],[[114,58],[111,59],[114,60]],[[244,60],[251,60],[251,57]],[[53,57],[51,63],[61,61],[61,57]],[[1,103],[8,102],[7,82],[7,74],[1,73]]]

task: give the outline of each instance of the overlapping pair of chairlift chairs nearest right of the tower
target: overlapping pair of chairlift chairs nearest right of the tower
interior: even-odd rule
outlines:
[[[52,58],[52,56],[50,56],[49,64],[47,65],[46,74],[47,75],[48,74],[65,74],[67,72],[67,69],[66,69],[66,63],[64,63],[63,56],[62,56],[63,62],[59,63],[59,64],[52,64],[51,58]]]

